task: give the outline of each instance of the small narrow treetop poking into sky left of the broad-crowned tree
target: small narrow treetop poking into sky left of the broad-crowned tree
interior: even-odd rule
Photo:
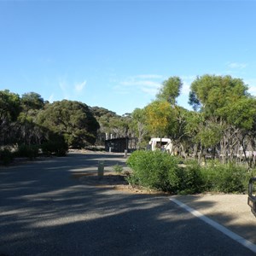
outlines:
[[[171,77],[163,82],[156,98],[160,101],[166,101],[172,105],[176,104],[176,98],[180,95],[183,86],[182,80],[178,77]]]

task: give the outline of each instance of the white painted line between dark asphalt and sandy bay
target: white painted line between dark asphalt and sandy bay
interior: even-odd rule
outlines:
[[[243,245],[244,247],[247,247],[248,249],[253,251],[253,253],[256,253],[256,245],[253,242],[246,240],[245,238],[237,235],[236,233],[232,232],[231,230],[228,230],[223,225],[218,224],[211,218],[207,218],[201,212],[196,211],[195,209],[187,206],[186,204],[184,204],[181,201],[178,201],[177,199],[170,198],[170,201],[175,202],[179,207],[183,207],[186,211],[192,213],[195,217],[201,218],[202,221],[206,222],[207,224],[210,224],[216,230],[219,230],[220,232],[224,233],[224,235],[229,236],[231,239],[233,239],[235,241],[238,241],[239,243],[241,243],[241,245]]]

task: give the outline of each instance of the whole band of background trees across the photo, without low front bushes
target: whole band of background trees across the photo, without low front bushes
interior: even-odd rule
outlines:
[[[69,148],[104,144],[112,137],[137,137],[145,148],[150,137],[172,139],[172,154],[199,161],[219,158],[256,162],[256,100],[241,79],[203,75],[190,85],[189,111],[177,105],[183,82],[171,77],[145,108],[119,116],[83,102],[45,102],[35,92],[19,96],[0,91],[0,146],[34,145],[60,137]]]

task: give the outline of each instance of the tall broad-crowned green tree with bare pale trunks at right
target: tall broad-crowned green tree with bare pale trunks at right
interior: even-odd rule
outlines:
[[[236,159],[255,123],[255,100],[247,90],[230,76],[204,75],[191,84],[189,103],[204,120],[195,137],[202,147],[218,148],[225,161]]]

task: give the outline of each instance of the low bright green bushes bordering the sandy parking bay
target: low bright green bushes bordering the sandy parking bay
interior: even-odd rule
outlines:
[[[204,191],[242,193],[252,173],[244,167],[226,166],[212,162],[201,167],[195,161],[179,166],[179,160],[160,151],[136,151],[127,160],[132,174],[128,181],[150,189],[175,194],[195,194]]]

